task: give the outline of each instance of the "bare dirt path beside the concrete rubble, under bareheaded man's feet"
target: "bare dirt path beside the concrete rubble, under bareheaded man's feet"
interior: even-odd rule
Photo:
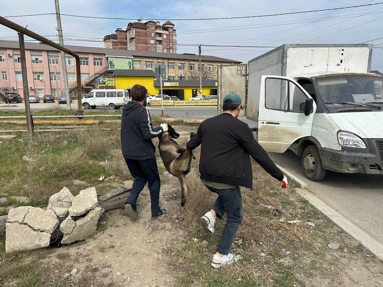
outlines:
[[[161,186],[161,207],[169,213],[159,220],[150,220],[150,198],[147,188],[139,197],[139,215],[133,221],[122,210],[107,212],[101,219],[101,231],[83,243],[59,248],[48,257],[52,264],[63,265],[71,281],[91,280],[95,284],[113,286],[171,286],[173,272],[166,264],[167,251],[184,233],[172,224],[180,206],[180,185],[176,178],[164,173]]]

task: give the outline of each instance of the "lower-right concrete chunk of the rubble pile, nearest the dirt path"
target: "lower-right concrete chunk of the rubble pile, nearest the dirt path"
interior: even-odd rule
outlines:
[[[74,226],[72,232],[69,234],[64,233],[63,229],[62,229],[63,223],[65,221],[67,221],[68,218],[70,218],[70,217],[65,219],[60,226],[61,232],[64,233],[64,237],[63,237],[63,240],[61,241],[61,243],[69,244],[69,243],[79,241],[79,240],[84,240],[88,237],[93,236],[93,234],[95,233],[96,228],[97,228],[97,223],[99,222],[99,219],[100,219],[101,215],[103,214],[103,212],[104,212],[104,209],[97,206],[94,209],[92,209],[84,218],[81,218],[77,221],[73,221],[75,223],[75,226]],[[70,220],[71,220],[71,218],[70,218]],[[68,224],[72,224],[72,223],[70,223],[70,220],[68,220]],[[70,228],[68,228],[68,229],[70,229]]]

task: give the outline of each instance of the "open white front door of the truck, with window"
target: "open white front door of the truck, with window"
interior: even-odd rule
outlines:
[[[311,99],[311,100],[307,100]],[[305,106],[311,107],[305,115]],[[296,81],[263,75],[259,96],[258,142],[269,152],[284,152],[296,140],[311,136],[316,111],[312,98]]]

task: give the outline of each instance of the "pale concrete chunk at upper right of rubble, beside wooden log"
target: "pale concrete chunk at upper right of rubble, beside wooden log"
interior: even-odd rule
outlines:
[[[72,201],[72,206],[69,208],[70,216],[81,216],[98,204],[97,193],[95,187],[88,187],[80,191]]]

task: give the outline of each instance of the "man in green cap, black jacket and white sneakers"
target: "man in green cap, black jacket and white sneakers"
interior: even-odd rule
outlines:
[[[241,97],[228,93],[223,98],[223,113],[205,120],[197,134],[186,144],[193,150],[201,144],[199,163],[200,178],[207,189],[218,195],[212,210],[201,217],[204,230],[214,233],[216,217],[227,216],[225,228],[212,266],[236,262],[235,255],[229,253],[235,234],[242,222],[242,196],[239,186],[252,188],[253,173],[250,156],[272,177],[287,187],[287,178],[281,173],[264,149],[255,141],[247,124],[238,120]]]

